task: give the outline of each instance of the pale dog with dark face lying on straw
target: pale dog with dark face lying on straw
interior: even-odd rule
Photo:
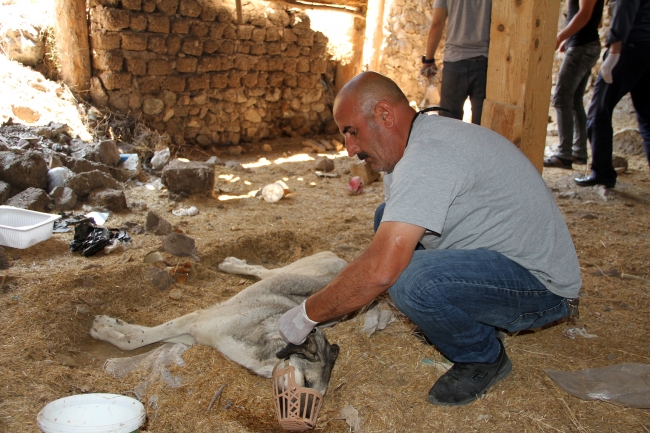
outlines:
[[[296,370],[296,383],[324,395],[339,347],[330,345],[318,328],[303,344],[287,344],[278,330],[278,321],[346,265],[331,252],[317,253],[278,269],[228,257],[219,265],[220,270],[252,275],[260,281],[225,302],[151,328],[96,316],[90,335],[122,350],[157,342],[205,344],[264,377],[271,377],[278,358],[288,359]]]

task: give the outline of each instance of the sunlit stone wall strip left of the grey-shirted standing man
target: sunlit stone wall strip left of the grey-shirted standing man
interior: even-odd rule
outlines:
[[[433,17],[433,0],[394,0],[384,14],[384,49],[379,72],[392,78],[409,101],[420,103],[426,86],[419,80],[421,58]],[[441,41],[436,60],[442,66]]]

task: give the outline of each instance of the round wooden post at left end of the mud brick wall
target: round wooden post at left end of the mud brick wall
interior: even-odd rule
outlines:
[[[84,98],[90,90],[90,47],[86,0],[56,0],[56,47],[61,78]]]

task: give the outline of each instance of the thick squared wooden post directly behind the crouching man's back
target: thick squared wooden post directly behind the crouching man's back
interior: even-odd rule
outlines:
[[[560,0],[492,0],[481,125],[542,171]]]

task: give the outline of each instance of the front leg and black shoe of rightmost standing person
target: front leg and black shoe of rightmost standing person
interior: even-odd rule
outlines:
[[[616,171],[612,163],[613,135],[612,114],[616,104],[647,75],[650,43],[640,43],[637,49],[624,48],[612,71],[612,83],[608,84],[599,74],[587,113],[587,135],[591,145],[591,174],[576,178],[580,186],[616,185]]]

